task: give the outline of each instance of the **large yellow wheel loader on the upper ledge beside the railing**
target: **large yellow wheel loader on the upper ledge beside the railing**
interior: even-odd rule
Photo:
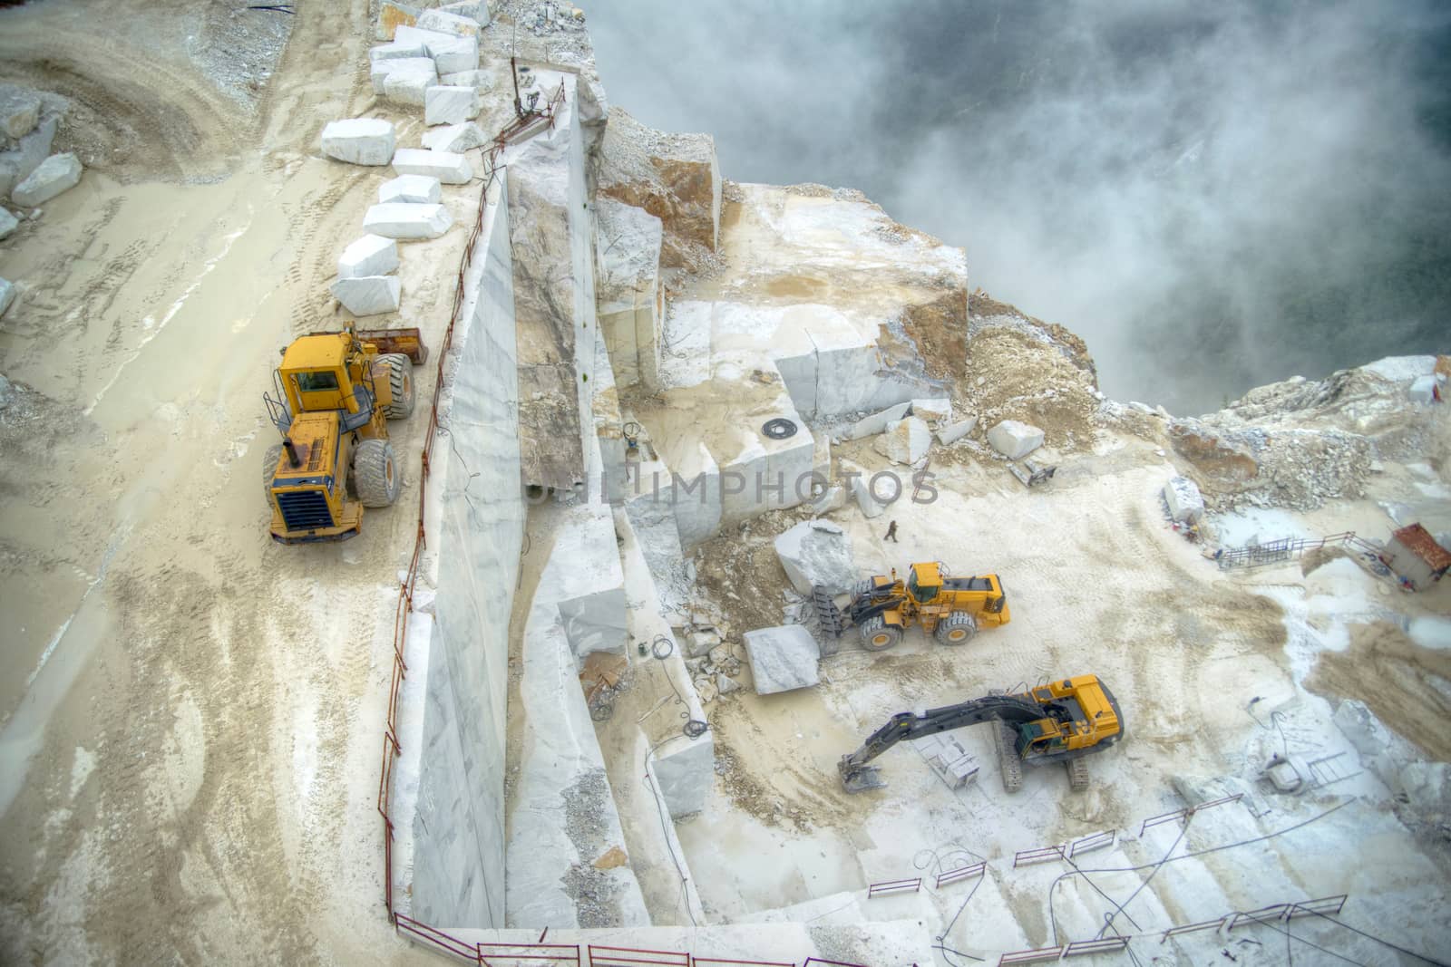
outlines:
[[[263,394],[281,433],[263,458],[274,541],[345,541],[364,507],[398,500],[387,420],[414,412],[414,364],[425,357],[418,329],[318,332],[281,351],[276,396]]]

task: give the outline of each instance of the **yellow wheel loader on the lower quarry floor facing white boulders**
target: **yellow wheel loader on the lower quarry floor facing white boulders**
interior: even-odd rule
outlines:
[[[962,645],[979,626],[1011,621],[997,574],[948,577],[937,561],[913,564],[905,581],[895,568],[891,577],[875,574],[860,581],[846,607],[837,607],[823,587],[813,589],[811,602],[823,641],[834,642],[847,628],[856,628],[868,651],[891,648],[913,625],[921,625],[945,645]]]

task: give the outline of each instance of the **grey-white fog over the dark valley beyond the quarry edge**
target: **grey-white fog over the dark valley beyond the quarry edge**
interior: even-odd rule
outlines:
[[[723,177],[860,188],[963,246],[1116,399],[1451,351],[1451,4],[586,10],[612,104],[712,133]]]

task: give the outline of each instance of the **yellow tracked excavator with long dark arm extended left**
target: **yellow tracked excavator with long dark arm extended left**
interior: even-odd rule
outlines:
[[[898,712],[872,732],[862,748],[837,763],[849,793],[882,789],[879,768],[869,763],[898,742],[979,722],[997,723],[998,765],[1003,789],[1023,787],[1023,765],[1064,763],[1074,792],[1088,787],[1084,757],[1101,752],[1123,738],[1119,702],[1097,676],[1059,678],[1022,694],[990,694],[971,702]]]

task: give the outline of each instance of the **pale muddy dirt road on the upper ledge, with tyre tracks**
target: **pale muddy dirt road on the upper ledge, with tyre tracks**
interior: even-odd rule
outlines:
[[[22,386],[0,412],[4,963],[412,955],[374,796],[424,420],[395,439],[399,506],[348,544],[273,545],[257,486],[277,348],[335,322],[371,200],[316,157],[370,106],[369,4],[297,4],[270,83],[226,72],[266,52],[234,7],[0,12],[0,77],[71,97],[61,144],[91,155],[0,246],[23,286],[0,323]]]

